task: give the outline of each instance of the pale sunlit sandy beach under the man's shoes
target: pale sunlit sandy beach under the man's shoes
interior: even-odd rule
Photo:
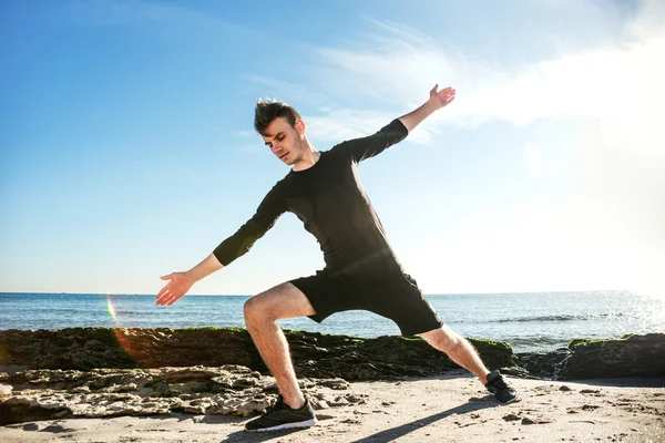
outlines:
[[[250,418],[178,414],[69,419],[0,427],[2,442],[665,442],[665,380],[510,379],[499,405],[466,373],[355,382],[356,404],[317,411],[299,431],[248,433]]]

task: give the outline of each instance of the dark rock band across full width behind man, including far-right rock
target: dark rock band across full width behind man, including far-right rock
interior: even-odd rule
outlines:
[[[429,377],[458,369],[418,338],[360,339],[285,331],[299,378],[348,381]],[[515,356],[505,342],[473,340],[490,369],[516,377],[579,380],[664,377],[665,334],[613,340],[573,340],[567,348]],[[30,369],[222,367],[236,364],[267,374],[245,329],[109,329],[0,331],[0,365]]]

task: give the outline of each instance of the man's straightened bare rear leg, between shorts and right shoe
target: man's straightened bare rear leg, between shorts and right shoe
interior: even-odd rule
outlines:
[[[443,324],[441,328],[421,333],[420,337],[436,349],[446,352],[460,367],[473,372],[484,385],[490,371],[480,359],[475,348],[462,336]]]

